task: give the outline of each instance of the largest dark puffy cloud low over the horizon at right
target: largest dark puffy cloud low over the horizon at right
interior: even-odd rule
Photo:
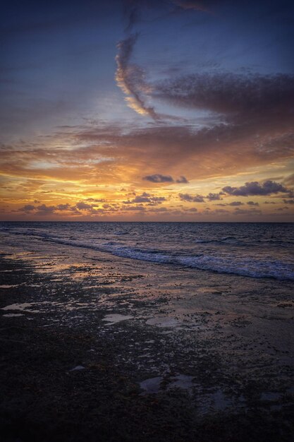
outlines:
[[[288,189],[282,186],[282,184],[275,181],[264,181],[263,184],[259,184],[258,181],[247,182],[244,186],[240,187],[223,187],[223,191],[228,195],[234,196],[253,196],[253,195],[271,195],[272,193],[288,193]]]

